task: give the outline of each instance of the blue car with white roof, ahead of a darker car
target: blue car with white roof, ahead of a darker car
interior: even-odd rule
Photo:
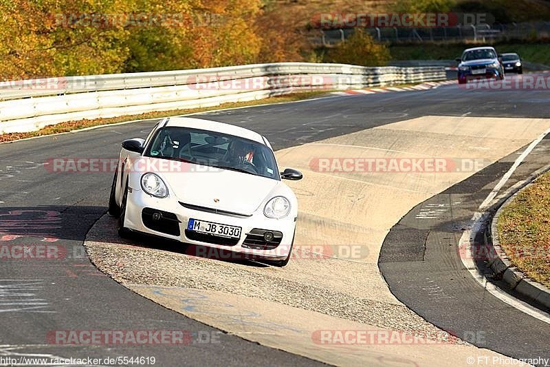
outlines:
[[[503,65],[492,47],[468,48],[456,61],[459,62],[459,84],[480,78],[504,79]]]

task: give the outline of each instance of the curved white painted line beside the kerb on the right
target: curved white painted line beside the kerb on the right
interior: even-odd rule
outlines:
[[[506,304],[509,304],[510,306],[517,308],[519,311],[522,311],[526,313],[527,315],[530,315],[532,317],[535,317],[536,319],[540,319],[542,322],[546,322],[547,324],[550,324],[550,316],[547,313],[544,313],[543,311],[540,311],[538,308],[535,308],[531,306],[530,304],[527,304],[526,302],[518,300],[516,297],[512,297],[502,289],[499,289],[494,284],[487,282],[487,278],[485,278],[485,275],[479,271],[477,268],[475,262],[474,262],[474,256],[470,256],[472,253],[472,241],[474,240],[472,233],[476,233],[480,231],[481,225],[483,224],[484,220],[487,218],[488,213],[484,212],[484,209],[490,206],[492,204],[492,201],[496,197],[498,191],[502,189],[502,187],[505,185],[505,183],[509,180],[512,174],[514,174],[514,171],[518,168],[518,166],[521,164],[521,162],[531,153],[531,151],[536,147],[538,143],[550,133],[550,129],[547,129],[545,132],[540,134],[538,138],[533,140],[533,142],[523,151],[518,158],[514,161],[514,164],[510,167],[510,169],[506,172],[506,174],[500,178],[494,189],[489,193],[487,198],[483,200],[481,205],[479,206],[478,210],[474,213],[474,216],[472,216],[472,219],[470,220],[469,228],[465,230],[462,233],[462,236],[460,238],[459,242],[459,248],[465,247],[466,251],[460,251],[461,260],[464,266],[468,271],[470,271],[470,274],[472,274],[472,277],[474,277],[475,280],[483,288],[485,288],[489,293],[494,295],[494,297],[498,298],[499,300],[505,302]]]

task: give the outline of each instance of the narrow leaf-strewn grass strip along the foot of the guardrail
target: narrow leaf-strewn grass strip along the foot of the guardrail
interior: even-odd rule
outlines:
[[[294,93],[294,94],[287,94],[285,96],[273,96],[269,98],[259,99],[256,101],[223,103],[221,105],[214,106],[214,107],[174,109],[171,111],[147,112],[145,114],[138,114],[138,115],[117,116],[117,117],[111,117],[111,118],[94,118],[92,120],[67,121],[65,123],[58,123],[56,125],[50,125],[50,126],[44,127],[43,129],[40,129],[36,132],[0,134],[0,143],[20,140],[24,138],[32,138],[34,136],[46,136],[46,135],[52,135],[52,134],[59,134],[62,132],[71,132],[72,130],[84,129],[85,127],[93,127],[93,126],[107,125],[107,124],[113,124],[113,123],[123,123],[125,121],[131,121],[131,120],[148,120],[149,118],[163,118],[166,116],[196,114],[197,112],[208,112],[208,111],[212,111],[213,109],[247,107],[247,106],[254,106],[254,105],[264,105],[266,103],[283,103],[283,102],[302,101],[304,99],[314,98],[317,96],[321,96],[322,94],[327,94],[327,92],[330,92],[330,91],[319,90],[314,92],[300,92],[300,93]]]

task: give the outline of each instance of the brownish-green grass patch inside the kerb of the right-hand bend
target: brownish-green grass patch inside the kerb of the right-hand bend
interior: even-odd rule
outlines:
[[[497,229],[500,246],[511,263],[550,287],[550,172],[501,211]]]

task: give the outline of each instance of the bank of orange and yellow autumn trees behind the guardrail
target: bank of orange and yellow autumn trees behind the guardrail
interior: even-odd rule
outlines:
[[[0,78],[300,61],[261,0],[0,0]]]

